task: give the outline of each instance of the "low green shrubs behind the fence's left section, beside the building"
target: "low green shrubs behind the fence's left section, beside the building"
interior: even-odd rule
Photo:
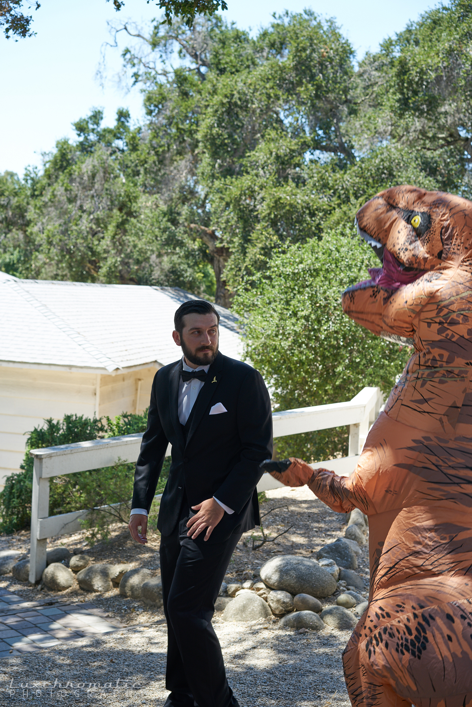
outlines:
[[[33,457],[30,456],[30,450],[144,432],[146,423],[147,411],[144,411],[141,415],[122,413],[113,420],[107,417],[106,423],[82,415],[66,415],[62,420],[47,419],[42,427],[35,427],[26,443],[27,451],[21,464],[23,471],[11,474],[0,493],[0,530],[21,530],[30,522],[33,484]],[[166,460],[159,479],[158,493],[166,484],[168,466]],[[89,530],[88,539],[90,542],[94,542],[97,537],[106,539],[110,523],[128,522],[133,480],[134,464],[123,462],[117,462],[113,467],[54,477],[50,484],[50,515],[91,510],[91,515],[83,522]],[[120,506],[113,507],[114,504]],[[93,510],[96,508],[100,510]]]

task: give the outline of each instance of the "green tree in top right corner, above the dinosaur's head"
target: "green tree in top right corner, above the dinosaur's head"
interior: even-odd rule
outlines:
[[[446,184],[465,196],[472,163],[471,47],[467,0],[451,0],[408,23],[361,62],[364,101],[351,126],[364,147],[388,140],[426,159],[441,155],[451,164]]]

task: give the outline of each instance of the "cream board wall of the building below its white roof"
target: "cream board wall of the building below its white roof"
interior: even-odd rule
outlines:
[[[114,417],[149,405],[156,366],[115,375],[0,366],[0,490],[20,470],[33,427],[76,414]]]

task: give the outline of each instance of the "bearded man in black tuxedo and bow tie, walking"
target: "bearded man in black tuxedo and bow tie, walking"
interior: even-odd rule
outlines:
[[[256,484],[259,464],[272,457],[270,397],[257,370],[219,353],[212,304],[185,302],[174,322],[183,358],[154,378],[129,530],[147,542],[147,515],[170,442],[157,522],[171,691],[164,707],[238,707],[212,617],[241,534],[260,522]]]

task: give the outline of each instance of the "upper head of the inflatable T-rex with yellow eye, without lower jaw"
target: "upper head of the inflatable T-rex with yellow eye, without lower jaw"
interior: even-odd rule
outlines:
[[[472,258],[472,204],[452,194],[391,187],[357,211],[356,223],[383,264],[369,270],[381,287],[398,289],[426,271]]]

